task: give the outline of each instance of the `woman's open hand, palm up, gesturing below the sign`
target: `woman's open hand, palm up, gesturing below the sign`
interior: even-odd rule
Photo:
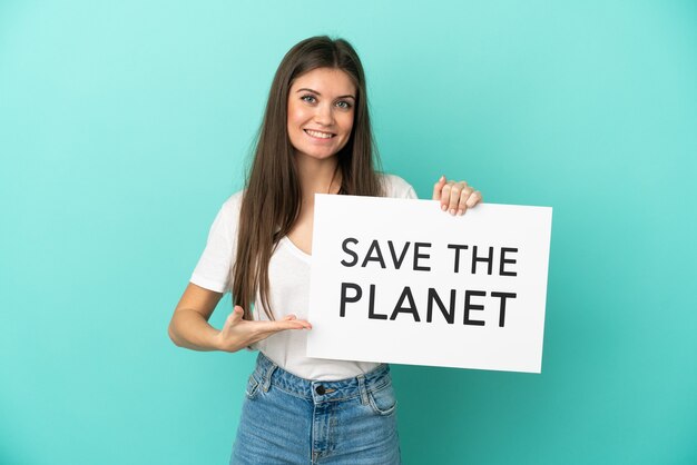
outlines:
[[[242,318],[243,315],[243,308],[236,305],[225,319],[223,329],[215,337],[218,350],[237,352],[286,329],[312,329],[308,321],[297,319],[295,315],[287,315],[275,321],[246,320]]]

